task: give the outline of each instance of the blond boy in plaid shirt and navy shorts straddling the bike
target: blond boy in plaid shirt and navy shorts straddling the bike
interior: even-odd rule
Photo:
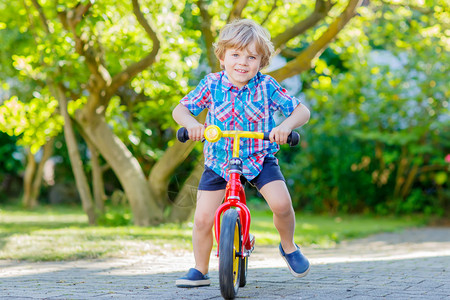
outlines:
[[[194,141],[203,138],[205,125],[192,115],[197,116],[204,109],[209,110],[206,125],[217,125],[222,130],[270,132],[270,142],[241,140],[243,176],[256,186],[273,212],[281,240],[279,250],[291,273],[303,277],[310,265],[294,243],[294,210],[274,154],[278,144],[286,143],[294,128],[309,120],[309,110],[289,96],[275,79],[259,72],[268,65],[274,51],[264,28],[250,20],[234,21],[221,30],[215,47],[224,71],[207,75],[175,107],[173,118],[186,127]],[[278,126],[273,118],[275,111],[287,117]],[[176,281],[178,287],[210,285],[207,273],[213,247],[214,213],[225,196],[226,166],[231,154],[231,139],[205,142],[205,170],[198,187],[192,234],[195,268]]]

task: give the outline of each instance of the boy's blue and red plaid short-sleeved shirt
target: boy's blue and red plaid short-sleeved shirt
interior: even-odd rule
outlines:
[[[205,108],[206,125],[217,125],[221,130],[270,132],[276,125],[275,111],[289,116],[300,100],[287,94],[272,77],[260,72],[240,90],[234,86],[225,71],[207,75],[198,86],[180,101],[197,116]],[[205,141],[205,165],[228,180],[228,160],[232,158],[232,138],[216,143]],[[259,139],[240,139],[239,156],[243,161],[243,175],[252,180],[262,170],[264,158],[274,157],[279,150],[276,143]]]

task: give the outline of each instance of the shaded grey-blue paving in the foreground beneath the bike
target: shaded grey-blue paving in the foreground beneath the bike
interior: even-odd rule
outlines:
[[[218,274],[209,287],[180,289],[184,272],[146,274],[145,267],[121,274],[121,268],[65,267],[65,263],[0,264],[0,296],[15,299],[222,299]],[[59,266],[47,272],[49,266]],[[30,268],[22,276],[8,269]],[[249,269],[238,299],[443,299],[450,297],[450,256],[313,265],[305,278],[286,268]],[[131,274],[130,274],[131,273]]]

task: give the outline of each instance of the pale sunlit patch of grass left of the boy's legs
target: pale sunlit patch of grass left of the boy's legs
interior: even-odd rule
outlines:
[[[176,240],[174,242],[174,240]],[[184,241],[184,245],[180,244]],[[190,249],[190,232],[186,236],[157,232],[128,235],[115,228],[80,228],[34,230],[3,239],[0,256],[32,261],[94,259],[105,257],[159,255],[175,249]]]

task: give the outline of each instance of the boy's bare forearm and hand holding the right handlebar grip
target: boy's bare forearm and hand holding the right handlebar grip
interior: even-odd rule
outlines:
[[[270,141],[279,145],[286,144],[287,137],[291,131],[308,122],[310,114],[306,106],[301,103],[297,105],[289,117],[272,129],[269,135]]]

